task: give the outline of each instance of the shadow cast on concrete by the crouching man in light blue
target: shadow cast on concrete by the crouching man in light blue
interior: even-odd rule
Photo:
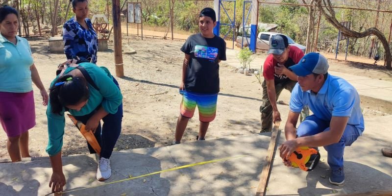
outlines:
[[[392,177],[384,172],[373,169],[367,165],[344,161],[345,181],[343,185],[337,186],[329,183],[330,170],[328,165],[322,163],[318,166],[322,172],[309,172],[306,176],[307,187],[298,189],[300,196],[315,196],[328,194],[349,194],[349,193],[366,193],[369,191],[385,190],[392,186]],[[325,176],[324,178],[320,177]],[[316,188],[321,183],[326,188]]]

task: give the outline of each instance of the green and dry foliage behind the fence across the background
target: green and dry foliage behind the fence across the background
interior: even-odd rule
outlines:
[[[136,0],[128,0],[129,2]],[[170,29],[170,6],[169,0],[138,0],[142,3],[142,17],[143,23],[146,26],[159,26],[161,29]],[[2,0],[1,2],[8,2],[9,5],[14,6],[15,0]],[[35,8],[40,19],[41,29],[51,28],[52,14],[54,13],[54,2],[55,0],[20,0],[24,7],[25,12],[23,25],[33,27],[35,32],[38,32],[37,19]],[[58,6],[58,16],[57,25],[62,25],[65,20],[73,17],[72,7],[69,11],[67,19],[65,19],[65,14],[67,10],[69,0],[59,0]],[[123,5],[125,0],[120,0],[120,6]],[[277,1],[276,1],[277,2]],[[285,3],[302,3],[301,0],[281,0],[279,2]],[[309,2],[309,0],[307,0]],[[392,10],[392,4],[390,1],[380,1],[381,10]],[[109,10],[107,10],[107,3],[109,3]],[[336,6],[347,6],[347,7],[358,7],[367,9],[376,9],[377,1],[369,0],[351,0],[345,1],[342,5],[342,1],[332,1],[333,5]],[[234,15],[234,2],[233,1],[222,1],[227,14],[231,19]],[[245,3],[245,16],[248,13],[251,3]],[[227,25],[221,25],[221,36],[227,33],[226,40],[231,40],[233,36],[237,36],[237,32],[240,31],[243,23],[243,5],[244,0],[236,0],[235,3],[235,20],[234,31],[230,29]],[[30,7],[29,7],[30,6]],[[124,21],[126,17],[126,5],[123,8],[122,13],[124,14],[122,20]],[[198,13],[204,7],[213,7],[213,1],[201,1],[201,0],[175,0],[173,6],[173,26],[174,30],[186,31],[189,34],[196,33],[198,29]],[[109,22],[112,22],[112,0],[89,0],[90,17],[93,14],[107,14],[109,11],[110,18]],[[335,8],[335,15],[338,21],[351,21],[351,29],[355,31],[364,31],[370,27],[375,26],[375,18],[377,12],[366,11],[366,10],[350,10]],[[221,8],[221,24],[230,24],[230,20],[227,17],[225,11]],[[259,3],[258,10],[259,23],[277,24],[277,31],[280,33],[287,34],[295,42],[305,45],[306,41],[306,31],[308,27],[308,9],[305,6],[295,6],[295,5],[276,5]],[[392,13],[380,12],[377,28],[384,33],[386,37],[390,33]],[[315,23],[317,25],[318,14],[315,17]],[[251,17],[249,16],[248,21],[245,25],[249,25]],[[316,26],[312,28],[316,33]],[[265,31],[265,29],[258,29],[259,32]],[[31,33],[30,33],[31,34]],[[330,25],[324,17],[321,17],[318,46],[319,48],[332,51],[336,47],[338,30]],[[312,37],[313,39],[314,37]],[[369,48],[370,41],[368,37],[350,39],[349,51],[354,54],[364,54],[366,55]],[[380,44],[378,44],[380,46]],[[345,51],[345,42],[341,42],[340,52]],[[377,49],[377,53],[383,54],[384,49],[382,47]]]

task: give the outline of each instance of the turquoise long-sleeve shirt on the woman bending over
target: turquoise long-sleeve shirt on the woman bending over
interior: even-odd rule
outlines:
[[[80,63],[79,65],[84,67],[87,73],[89,73],[90,77],[99,88],[99,91],[89,83],[88,88],[90,91],[90,97],[87,101],[87,104],[83,106],[80,111],[69,110],[69,113],[73,116],[84,116],[90,114],[99,105],[101,105],[107,113],[115,114],[118,107],[123,102],[123,95],[121,94],[120,89],[113,82],[113,76],[110,74],[109,70],[107,70],[105,67],[98,67],[93,63]],[[74,69],[76,68],[69,67],[64,74],[67,74]],[[52,81],[50,86],[54,85],[56,79]],[[46,151],[49,156],[56,155],[58,152],[60,152],[61,147],[63,146],[65,126],[64,112],[65,108],[63,108],[60,114],[52,113],[49,100],[48,109],[46,112],[48,117],[49,134],[49,142]]]

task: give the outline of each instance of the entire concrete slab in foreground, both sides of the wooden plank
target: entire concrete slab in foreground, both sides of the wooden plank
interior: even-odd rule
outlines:
[[[343,186],[328,182],[327,153],[320,148],[321,160],[315,171],[302,172],[286,168],[275,156],[267,196],[276,195],[339,195],[386,190],[392,187],[392,159],[383,157],[380,149],[391,147],[392,116],[366,119],[366,130],[344,155],[346,181]],[[280,135],[279,144],[284,140]],[[258,186],[270,134],[252,134],[203,142],[132,149],[114,152],[111,157],[112,176],[99,182],[95,179],[95,155],[63,157],[67,178],[64,195],[156,195],[156,196],[248,196]],[[249,155],[224,161],[162,172],[133,180],[108,184],[131,176],[172,169],[174,167]],[[42,196],[48,187],[51,168],[48,157],[19,163],[0,164],[0,195]],[[95,187],[102,185],[99,187]],[[86,188],[79,190],[81,188]]]

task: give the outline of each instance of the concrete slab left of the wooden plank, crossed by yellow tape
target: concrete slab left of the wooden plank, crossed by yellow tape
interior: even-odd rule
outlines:
[[[95,179],[95,155],[63,157],[67,191],[64,195],[253,195],[258,172],[269,145],[270,134],[230,137],[170,147],[134,149],[113,153],[112,176],[105,182]],[[162,171],[182,165],[252,154],[134,180],[103,185],[132,176]],[[42,196],[48,187],[51,168],[48,157],[19,163],[0,164],[1,195]],[[7,172],[5,172],[7,171]],[[78,190],[80,188],[87,188]]]

